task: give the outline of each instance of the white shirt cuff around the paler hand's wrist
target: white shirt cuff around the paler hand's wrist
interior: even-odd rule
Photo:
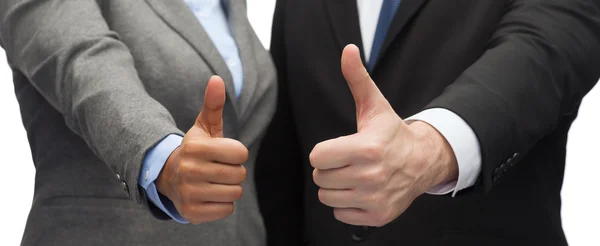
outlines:
[[[433,126],[446,138],[458,162],[458,180],[441,184],[427,193],[456,196],[458,191],[475,185],[481,172],[481,149],[475,132],[460,116],[443,108],[424,110],[408,119],[423,121]]]

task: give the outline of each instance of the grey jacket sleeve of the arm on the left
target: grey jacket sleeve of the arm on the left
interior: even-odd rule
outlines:
[[[145,152],[177,129],[145,91],[128,48],[95,0],[2,0],[0,44],[68,127],[146,204],[138,187]]]

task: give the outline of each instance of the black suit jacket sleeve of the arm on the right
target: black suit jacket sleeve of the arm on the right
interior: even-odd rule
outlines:
[[[428,108],[446,108],[476,133],[488,192],[561,121],[600,76],[600,1],[512,0],[486,52]]]

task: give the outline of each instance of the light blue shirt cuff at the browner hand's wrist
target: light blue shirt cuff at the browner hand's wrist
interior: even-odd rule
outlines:
[[[146,154],[142,170],[140,172],[139,185],[146,190],[146,195],[152,203],[173,220],[187,224],[188,222],[181,217],[173,202],[169,198],[158,193],[154,181],[158,178],[160,171],[167,163],[167,159],[177,147],[181,144],[183,137],[170,134],[161,140],[154,148]]]

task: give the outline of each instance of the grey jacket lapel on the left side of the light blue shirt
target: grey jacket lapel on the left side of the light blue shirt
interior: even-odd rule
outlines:
[[[233,87],[233,77],[223,57],[212,43],[210,36],[202,28],[202,24],[189,7],[181,0],[146,0],[148,4],[173,30],[181,35],[200,54],[212,71],[225,81],[227,100],[233,104],[237,112],[237,100]]]

